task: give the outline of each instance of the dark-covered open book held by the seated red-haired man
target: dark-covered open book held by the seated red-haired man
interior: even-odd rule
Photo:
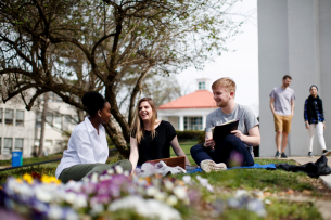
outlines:
[[[214,127],[213,139],[215,141],[215,145],[219,144],[228,134],[231,134],[231,131],[238,129],[239,119],[233,119],[221,124],[220,126]]]

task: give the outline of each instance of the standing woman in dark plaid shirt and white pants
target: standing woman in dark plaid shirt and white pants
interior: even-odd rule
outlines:
[[[326,129],[323,103],[322,103],[322,100],[317,95],[317,93],[318,93],[317,86],[313,85],[310,87],[309,91],[310,91],[310,95],[308,96],[308,99],[305,102],[305,111],[304,111],[305,126],[309,132],[308,156],[309,157],[314,156],[313,155],[313,142],[314,142],[315,128],[316,128],[319,144],[323,151],[322,155],[328,156],[331,154],[331,151],[327,150],[326,140],[323,137],[323,130]]]

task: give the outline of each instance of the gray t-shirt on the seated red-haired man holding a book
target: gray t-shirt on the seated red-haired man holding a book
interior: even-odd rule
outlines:
[[[243,134],[249,135],[249,130],[254,126],[258,125],[258,120],[253,109],[245,105],[235,104],[234,109],[230,114],[225,114],[221,108],[217,108],[207,116],[206,132],[212,132],[212,128],[219,126],[229,120],[239,119],[238,130]],[[253,146],[245,144],[254,158]]]

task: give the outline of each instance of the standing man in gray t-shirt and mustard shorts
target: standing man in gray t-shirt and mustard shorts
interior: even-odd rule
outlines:
[[[289,88],[292,77],[285,75],[280,87],[273,88],[270,93],[270,108],[275,119],[276,146],[275,157],[287,158],[285,148],[288,145],[289,133],[291,132],[291,122],[294,115],[294,90]],[[281,140],[282,137],[282,140]],[[280,154],[281,143],[281,154]]]

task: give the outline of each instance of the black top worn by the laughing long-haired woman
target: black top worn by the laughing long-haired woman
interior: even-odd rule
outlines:
[[[151,131],[144,131],[138,144],[138,165],[148,160],[170,158],[170,142],[177,135],[176,130],[170,122],[162,120],[155,131],[153,140]],[[131,137],[136,138],[133,132]]]

